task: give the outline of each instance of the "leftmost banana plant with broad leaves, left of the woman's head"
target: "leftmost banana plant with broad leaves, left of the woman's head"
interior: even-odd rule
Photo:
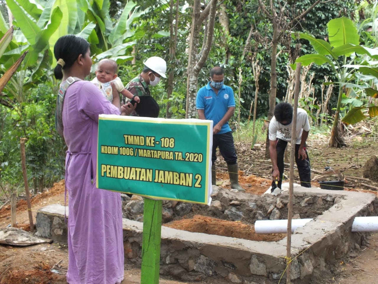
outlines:
[[[16,62],[20,54],[29,50],[20,66],[21,69],[6,87],[9,98],[22,103],[28,90],[41,81],[44,70],[50,68],[48,61],[52,56],[48,52],[48,40],[60,25],[62,11],[59,7],[53,8],[51,2],[41,6],[26,0],[7,0],[7,5],[12,11],[13,24],[17,30],[0,63],[4,68],[8,68]],[[1,18],[0,28],[3,29],[7,23],[3,17]]]

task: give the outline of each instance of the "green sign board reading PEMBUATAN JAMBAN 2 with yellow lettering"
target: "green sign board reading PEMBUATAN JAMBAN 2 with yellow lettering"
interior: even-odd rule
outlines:
[[[212,121],[99,115],[96,186],[209,204]]]

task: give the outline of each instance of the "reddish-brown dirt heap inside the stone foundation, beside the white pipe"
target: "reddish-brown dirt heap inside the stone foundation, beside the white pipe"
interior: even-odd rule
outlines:
[[[277,242],[286,237],[286,234],[256,234],[253,225],[243,224],[240,221],[220,220],[202,215],[194,215],[193,218],[190,219],[175,220],[163,224],[163,226],[194,233],[206,233],[263,242]]]

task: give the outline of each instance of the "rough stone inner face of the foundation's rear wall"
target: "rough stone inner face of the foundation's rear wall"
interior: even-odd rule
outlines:
[[[293,201],[293,212],[295,212],[293,218],[316,218],[343,198],[343,195],[335,195],[334,192],[323,195],[314,195],[311,190],[296,192]],[[194,214],[242,221],[251,225],[256,220],[287,219],[287,204],[289,203],[287,193],[277,197],[270,194],[253,195],[213,186],[211,197],[210,206],[164,200],[162,223],[180,219],[184,215],[186,218],[190,218]],[[130,198],[122,194],[122,205],[124,218],[143,222],[143,197],[133,195]]]

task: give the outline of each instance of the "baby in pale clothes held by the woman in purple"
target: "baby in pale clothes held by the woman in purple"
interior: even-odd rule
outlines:
[[[134,96],[123,86],[121,79],[119,79],[117,75],[117,69],[118,65],[114,60],[101,59],[97,66],[96,78],[94,78],[91,82],[101,90],[104,97],[110,102],[113,102],[113,90],[111,86],[111,83],[113,82],[117,91],[124,97],[127,97],[130,100],[135,100],[137,103],[139,103],[139,97]]]

